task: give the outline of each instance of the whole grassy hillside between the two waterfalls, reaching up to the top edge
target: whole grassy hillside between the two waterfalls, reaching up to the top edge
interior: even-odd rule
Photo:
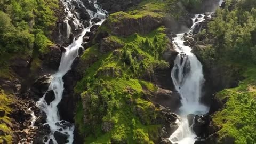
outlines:
[[[127,12],[111,14],[99,28],[98,35],[107,31],[110,36],[102,41],[96,36],[83,53],[78,65],[83,78],[75,87],[82,99],[75,123],[84,143],[159,142],[163,115],[148,97],[157,87],[146,77],[156,68],[169,68],[162,55],[170,45],[164,26],[150,31],[152,25],[143,21],[186,13],[175,9],[177,2],[143,1]],[[133,27],[137,22],[141,27]]]

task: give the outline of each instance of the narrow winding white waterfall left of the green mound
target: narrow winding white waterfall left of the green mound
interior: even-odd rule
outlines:
[[[76,0],[76,1],[78,2],[79,0]],[[73,18],[73,19],[75,19],[73,21],[76,22],[77,25],[80,25],[81,23],[77,23],[77,22],[79,22],[78,18],[76,18],[71,13],[71,11],[69,9],[70,4],[71,4],[70,0],[66,0],[65,2],[63,1],[63,4],[65,5],[66,12],[68,13],[68,17],[66,20],[68,20],[69,18]],[[106,19],[106,11],[102,10],[100,8],[100,6],[97,5],[97,1],[94,1],[93,4],[98,11],[97,11],[97,13],[93,12],[93,13],[89,13],[89,14],[91,14],[91,18],[100,18],[101,21],[98,23],[93,23],[90,21],[90,26],[83,29],[81,36],[77,40],[73,41],[73,43],[71,43],[66,48],[66,52],[62,53],[59,70],[56,74],[51,76],[52,77],[51,84],[48,89],[49,91],[50,90],[54,91],[55,100],[53,100],[50,103],[50,105],[47,105],[47,103],[44,100],[44,98],[45,98],[45,95],[44,95],[36,103],[36,106],[41,108],[41,110],[43,110],[46,113],[46,115],[47,115],[47,123],[46,124],[49,124],[49,126],[51,128],[51,134],[49,135],[49,140],[46,143],[49,143],[50,139],[53,140],[54,144],[57,143],[57,141],[55,141],[54,136],[53,136],[53,133],[55,131],[59,131],[61,133],[69,135],[68,143],[73,143],[74,125],[67,127],[63,123],[68,123],[68,122],[65,122],[65,121],[60,122],[57,105],[60,103],[60,101],[62,99],[62,93],[64,90],[64,83],[62,81],[62,77],[68,72],[68,70],[71,69],[71,65],[78,55],[78,50],[80,47],[82,47],[81,44],[83,43],[83,36],[86,34],[86,32],[90,31],[90,28],[93,25],[95,25],[95,24],[101,25],[101,23]],[[86,9],[86,8],[84,7],[84,9]],[[90,10],[87,10],[87,11],[90,11]],[[60,131],[60,129],[62,129],[62,131]]]

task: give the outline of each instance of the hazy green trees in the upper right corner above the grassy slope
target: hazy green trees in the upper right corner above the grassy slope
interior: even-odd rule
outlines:
[[[206,42],[212,43],[214,49],[207,49],[205,57],[256,62],[255,6],[256,1],[251,0],[227,1],[225,9],[217,10],[217,17],[208,25],[210,37]]]

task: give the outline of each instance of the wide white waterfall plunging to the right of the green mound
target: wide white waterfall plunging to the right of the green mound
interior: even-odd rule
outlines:
[[[189,33],[193,31],[198,23],[204,21],[204,15],[197,14],[192,20],[194,24]],[[173,40],[174,48],[179,54],[174,61],[175,65],[171,77],[175,89],[181,95],[182,106],[180,107],[181,121],[177,119],[176,122],[179,128],[171,135],[169,140],[172,143],[192,144],[196,141],[196,135],[189,127],[187,115],[205,114],[209,111],[209,108],[200,103],[201,89],[205,81],[202,64],[191,53],[191,47],[184,45],[184,35],[177,34],[177,37]]]

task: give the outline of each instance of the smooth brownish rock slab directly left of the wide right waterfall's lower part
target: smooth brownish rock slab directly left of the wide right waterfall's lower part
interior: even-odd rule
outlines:
[[[159,103],[162,106],[165,106],[172,111],[177,110],[180,105],[180,95],[177,92],[172,92],[170,90],[158,88],[156,94],[154,94],[154,102]]]

